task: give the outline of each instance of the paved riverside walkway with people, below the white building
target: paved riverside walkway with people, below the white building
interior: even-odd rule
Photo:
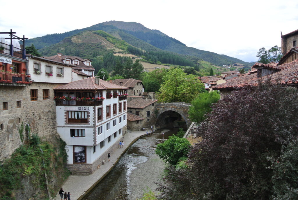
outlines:
[[[93,174],[87,176],[71,175],[63,184],[62,188],[66,192],[70,192],[72,195],[70,199],[77,200],[82,199],[88,190],[90,191],[101,179],[103,179],[114,167],[114,164],[118,162],[123,153],[141,136],[145,136],[145,131],[133,131],[126,133],[123,137],[124,147],[119,148],[115,153],[111,154],[110,162],[105,162],[98,170]],[[60,200],[60,196],[55,197],[56,200]]]

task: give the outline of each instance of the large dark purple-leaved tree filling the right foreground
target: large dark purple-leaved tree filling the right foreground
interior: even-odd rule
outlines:
[[[190,150],[188,168],[168,168],[159,199],[296,197],[297,149],[290,141],[297,145],[297,104],[297,88],[280,84],[225,96],[198,127],[203,140]]]

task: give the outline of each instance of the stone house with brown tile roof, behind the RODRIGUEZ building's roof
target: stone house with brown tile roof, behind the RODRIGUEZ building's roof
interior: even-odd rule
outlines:
[[[109,80],[109,82],[123,87],[128,87],[128,96],[141,96],[145,90],[142,81],[136,79],[116,79]]]

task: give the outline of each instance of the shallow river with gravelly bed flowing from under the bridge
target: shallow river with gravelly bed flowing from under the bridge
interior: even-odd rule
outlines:
[[[165,163],[155,154],[157,144],[176,134],[173,130],[158,130],[155,134],[136,141],[119,159],[113,170],[94,187],[84,198],[85,200],[140,198],[149,187],[152,191],[157,188],[156,182],[162,180]],[[125,145],[125,144],[124,144]]]

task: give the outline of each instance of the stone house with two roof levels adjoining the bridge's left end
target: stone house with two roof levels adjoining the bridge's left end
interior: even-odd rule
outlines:
[[[154,104],[158,100],[135,98],[127,103],[128,130],[141,130],[155,124]]]

